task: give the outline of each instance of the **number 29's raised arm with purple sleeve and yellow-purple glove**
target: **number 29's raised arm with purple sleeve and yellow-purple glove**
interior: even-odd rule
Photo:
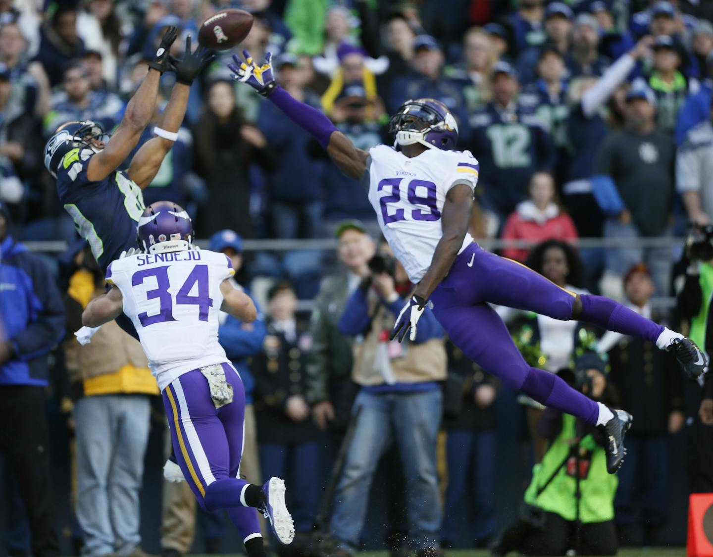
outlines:
[[[332,121],[323,113],[307,104],[301,103],[287,93],[282,87],[277,85],[272,78],[272,54],[267,53],[265,63],[257,66],[248,51],[243,51],[245,62],[237,55],[233,55],[235,64],[228,64],[235,75],[237,81],[244,81],[254,88],[262,96],[272,101],[284,114],[298,126],[303,128],[319,141],[319,145],[327,151],[329,158],[332,158],[342,173],[360,180],[366,170],[366,159],[369,153],[357,149],[352,141],[344,133],[334,127]]]

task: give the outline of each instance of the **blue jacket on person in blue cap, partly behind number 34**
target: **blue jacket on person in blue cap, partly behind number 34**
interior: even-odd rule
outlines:
[[[252,298],[252,296],[250,296]],[[228,315],[225,322],[218,327],[218,340],[225,349],[225,355],[230,358],[233,367],[242,379],[245,387],[245,404],[252,404],[252,392],[255,390],[255,379],[247,367],[247,359],[262,350],[265,340],[265,316],[260,312],[255,298],[252,298],[257,309],[257,319],[252,323],[243,323]]]

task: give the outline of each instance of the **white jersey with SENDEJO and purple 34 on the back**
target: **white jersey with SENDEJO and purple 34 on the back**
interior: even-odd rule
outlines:
[[[218,343],[220,283],[232,277],[222,253],[142,253],[111,262],[106,281],[123,296],[158,387],[199,367],[228,362]]]

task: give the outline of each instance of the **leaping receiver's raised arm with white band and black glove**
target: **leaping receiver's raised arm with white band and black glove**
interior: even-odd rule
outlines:
[[[188,106],[190,85],[213,58],[215,55],[212,51],[202,46],[192,52],[190,36],[185,40],[183,59],[170,56],[176,74],[176,84],[160,122],[154,130],[156,136],[141,146],[128,169],[129,178],[142,190],[153,181],[163,159],[173,147],[174,141],[178,139],[178,130],[183,123],[185,109]]]

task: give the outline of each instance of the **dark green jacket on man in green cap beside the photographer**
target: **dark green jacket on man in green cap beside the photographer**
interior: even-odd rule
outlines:
[[[352,337],[339,332],[339,317],[347,302],[347,277],[322,280],[310,322],[312,347],[307,354],[307,402],[332,400],[332,384],[350,379]]]

